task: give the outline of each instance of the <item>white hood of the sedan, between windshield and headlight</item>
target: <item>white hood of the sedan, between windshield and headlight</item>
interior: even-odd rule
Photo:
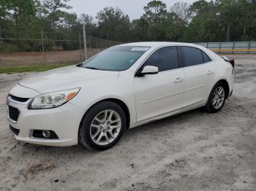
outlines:
[[[118,74],[118,71],[100,71],[78,66],[67,66],[35,74],[32,77],[20,80],[18,84],[37,90],[40,93],[50,93],[86,85],[96,85],[97,83],[117,79]]]

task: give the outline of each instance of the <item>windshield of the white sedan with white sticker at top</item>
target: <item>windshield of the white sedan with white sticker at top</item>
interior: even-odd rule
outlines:
[[[117,46],[90,58],[80,65],[86,69],[124,71],[129,69],[150,47]]]

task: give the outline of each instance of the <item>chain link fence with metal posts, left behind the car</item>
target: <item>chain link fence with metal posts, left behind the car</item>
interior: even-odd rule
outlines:
[[[54,36],[54,37],[53,37]],[[37,63],[79,63],[121,42],[74,31],[0,31],[0,66]],[[87,54],[87,56],[86,56]]]

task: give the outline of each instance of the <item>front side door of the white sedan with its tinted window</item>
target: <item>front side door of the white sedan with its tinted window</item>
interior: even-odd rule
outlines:
[[[177,47],[156,50],[139,71],[144,66],[157,66],[159,73],[135,77],[138,122],[180,109],[184,101],[184,69],[179,65]]]

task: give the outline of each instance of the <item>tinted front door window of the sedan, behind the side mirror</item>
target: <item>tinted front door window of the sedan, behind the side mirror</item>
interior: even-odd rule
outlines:
[[[177,47],[162,47],[154,52],[144,66],[157,66],[159,71],[167,71],[178,68]]]

